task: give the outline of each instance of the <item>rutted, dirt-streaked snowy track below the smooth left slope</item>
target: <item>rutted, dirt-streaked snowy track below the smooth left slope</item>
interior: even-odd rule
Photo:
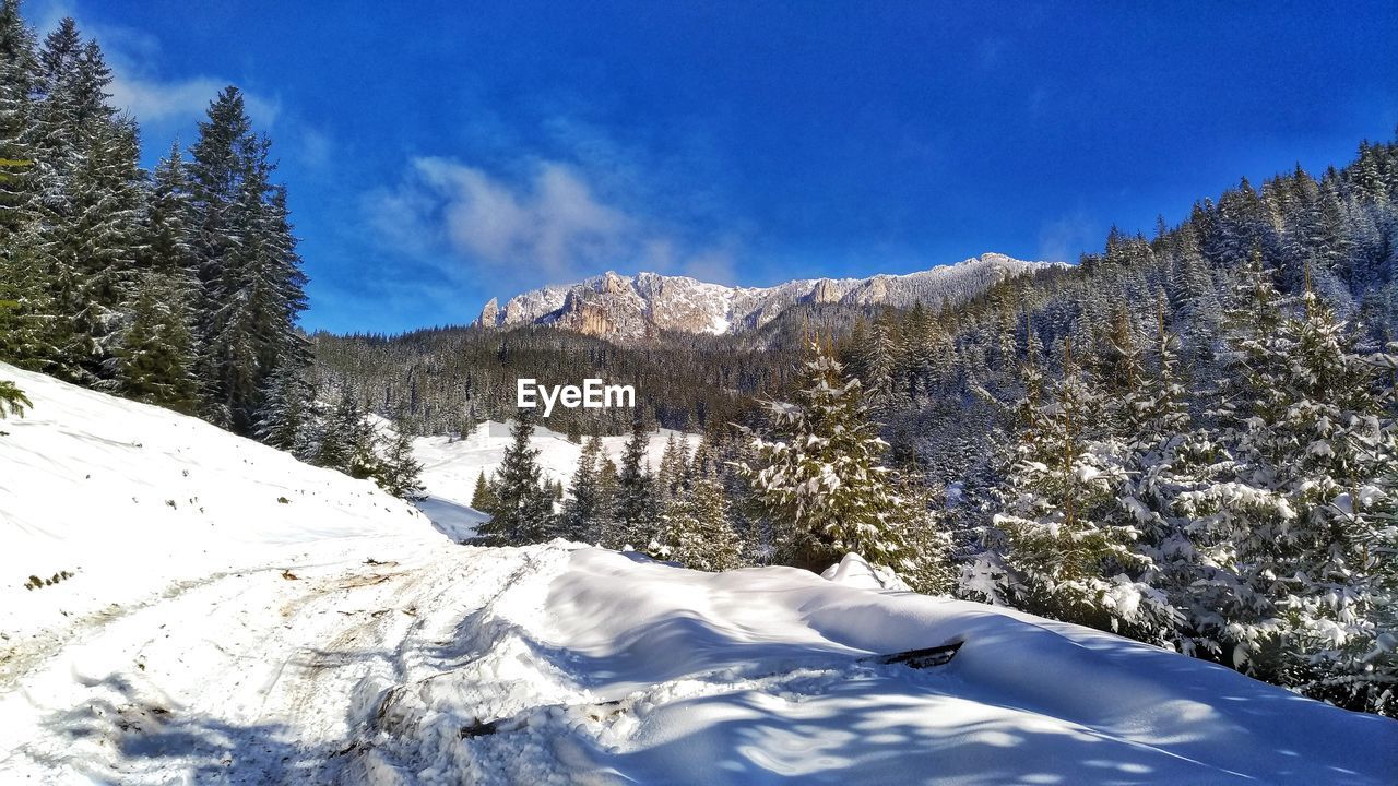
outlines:
[[[433,551],[232,573],[84,622],[0,684],[11,748],[0,772],[6,782],[330,778],[351,741],[355,687],[400,676],[421,641],[418,606],[442,603],[421,592]]]

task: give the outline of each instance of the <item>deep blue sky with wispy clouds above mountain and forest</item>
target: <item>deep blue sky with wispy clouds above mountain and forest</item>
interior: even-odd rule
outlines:
[[[1398,126],[1398,4],[28,0],[117,70],[147,158],[238,84],[309,329],[473,319],[545,283],[762,285],[1117,224]],[[42,29],[41,29],[42,32]]]

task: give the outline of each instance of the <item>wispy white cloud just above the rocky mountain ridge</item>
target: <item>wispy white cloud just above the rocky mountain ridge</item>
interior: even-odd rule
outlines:
[[[411,161],[391,190],[365,199],[384,242],[445,263],[453,276],[535,287],[607,269],[733,278],[728,250],[685,253],[650,217],[604,199],[594,179],[559,161],[535,161],[506,178],[452,158]]]

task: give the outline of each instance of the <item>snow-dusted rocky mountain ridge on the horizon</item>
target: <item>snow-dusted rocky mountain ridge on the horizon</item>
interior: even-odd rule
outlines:
[[[618,340],[646,338],[663,330],[740,333],[807,302],[900,308],[921,302],[937,309],[967,301],[1005,278],[1055,266],[1062,263],[987,253],[907,276],[801,280],[776,287],[724,287],[684,276],[608,271],[577,284],[516,295],[503,308],[492,298],[477,324],[552,324]]]

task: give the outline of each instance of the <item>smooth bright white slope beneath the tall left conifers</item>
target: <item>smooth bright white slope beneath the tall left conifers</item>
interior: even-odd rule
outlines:
[[[431,533],[369,481],[197,418],[4,364],[0,379],[34,401],[27,417],[0,421],[6,634],[327,541]],[[27,587],[31,576],[41,586]]]

